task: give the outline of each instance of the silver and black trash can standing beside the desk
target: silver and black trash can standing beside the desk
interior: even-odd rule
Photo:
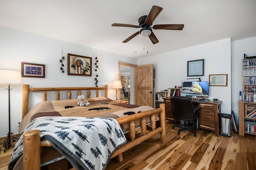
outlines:
[[[220,114],[220,135],[231,137],[232,125],[231,125],[231,114]]]

